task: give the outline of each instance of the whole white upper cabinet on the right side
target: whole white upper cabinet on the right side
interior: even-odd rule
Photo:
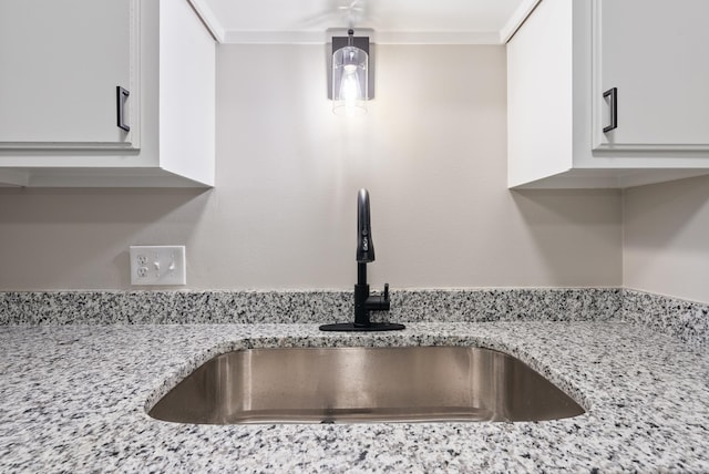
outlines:
[[[706,0],[542,0],[507,43],[508,186],[709,174],[707,18]]]

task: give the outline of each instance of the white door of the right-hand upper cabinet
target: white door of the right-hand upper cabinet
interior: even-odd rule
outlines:
[[[594,148],[709,150],[709,1],[594,8]],[[604,133],[613,87],[617,127]]]

